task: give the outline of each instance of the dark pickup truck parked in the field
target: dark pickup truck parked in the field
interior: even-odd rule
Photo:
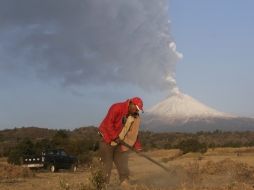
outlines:
[[[29,168],[45,168],[51,172],[58,169],[77,170],[77,158],[66,154],[63,149],[47,150],[40,156],[24,156],[22,165]]]

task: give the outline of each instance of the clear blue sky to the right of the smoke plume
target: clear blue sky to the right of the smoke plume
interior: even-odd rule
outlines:
[[[220,111],[254,116],[254,2],[171,0],[171,32],[184,58],[179,88]]]

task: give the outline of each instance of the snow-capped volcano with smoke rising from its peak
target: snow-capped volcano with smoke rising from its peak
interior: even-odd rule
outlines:
[[[254,130],[254,118],[239,117],[213,109],[175,90],[146,111],[143,130],[155,132],[247,131]]]

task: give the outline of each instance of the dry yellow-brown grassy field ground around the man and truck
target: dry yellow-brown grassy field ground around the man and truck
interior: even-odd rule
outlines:
[[[154,150],[145,153],[157,160],[170,172],[143,157],[130,154],[130,182],[128,189],[140,190],[249,190],[254,189],[254,149],[218,148],[205,154],[188,153],[179,156],[178,150]],[[5,159],[0,160],[0,190],[84,190],[90,183],[89,168],[77,172],[59,171],[49,173],[25,171],[16,175],[17,168],[9,168]],[[5,168],[4,168],[5,167]],[[11,175],[6,175],[9,172]],[[114,168],[111,189],[121,189]],[[123,189],[123,188],[122,188]]]

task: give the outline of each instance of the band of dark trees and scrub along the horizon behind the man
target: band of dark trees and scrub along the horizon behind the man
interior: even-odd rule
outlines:
[[[252,147],[254,132],[154,133],[142,131],[139,135],[144,151],[153,149],[180,149],[205,153],[208,148]],[[97,155],[100,137],[96,127],[75,130],[50,130],[36,127],[0,131],[0,157],[12,164],[21,164],[21,157],[38,155],[43,150],[64,148],[78,158],[79,164],[89,164]]]

